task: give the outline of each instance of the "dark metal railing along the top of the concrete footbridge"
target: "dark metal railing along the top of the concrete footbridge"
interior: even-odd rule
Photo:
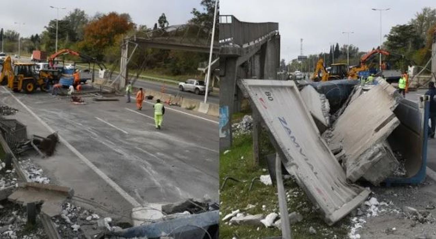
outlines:
[[[219,16],[220,45],[232,43],[243,46],[278,31],[279,23],[276,22],[251,23],[242,22],[233,15]]]

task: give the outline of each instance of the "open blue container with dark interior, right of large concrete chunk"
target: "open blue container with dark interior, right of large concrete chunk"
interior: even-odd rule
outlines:
[[[419,184],[426,178],[427,139],[430,101],[422,96],[419,101],[402,99],[394,114],[401,122],[388,137],[392,150],[398,150],[405,158],[405,177],[388,178],[391,184]]]

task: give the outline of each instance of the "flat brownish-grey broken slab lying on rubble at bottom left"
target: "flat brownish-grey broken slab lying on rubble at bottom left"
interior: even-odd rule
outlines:
[[[62,204],[74,191],[68,187],[27,182],[7,198],[11,202],[27,205],[27,203],[42,203],[41,212],[49,217],[61,214]]]

